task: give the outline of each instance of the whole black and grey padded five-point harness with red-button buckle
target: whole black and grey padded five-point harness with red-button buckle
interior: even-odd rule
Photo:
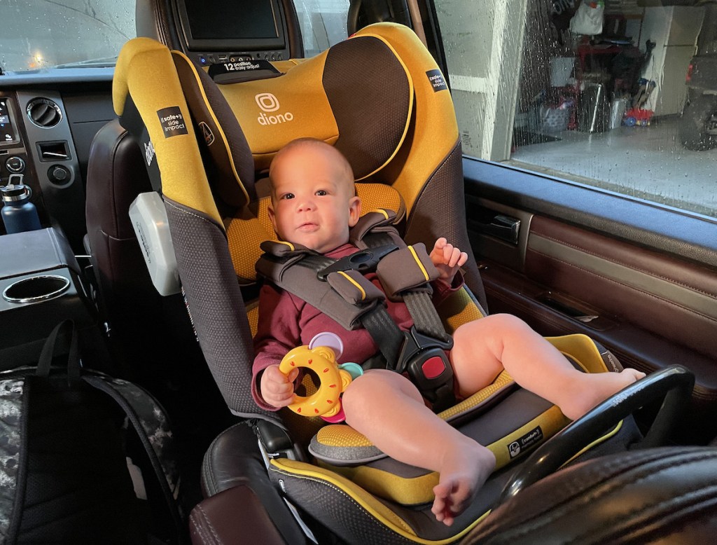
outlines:
[[[431,300],[428,282],[438,272],[424,245],[410,247],[401,240],[392,217],[383,210],[362,217],[350,234],[360,251],[340,260],[287,242],[263,242],[257,272],[343,328],[363,326],[386,362],[380,364],[374,356],[369,368],[407,372],[435,409],[442,410],[453,401],[452,369],[445,354],[452,338]],[[383,304],[383,291],[364,278],[363,273],[372,270],[389,298],[407,305],[414,322],[411,331],[399,329]]]

